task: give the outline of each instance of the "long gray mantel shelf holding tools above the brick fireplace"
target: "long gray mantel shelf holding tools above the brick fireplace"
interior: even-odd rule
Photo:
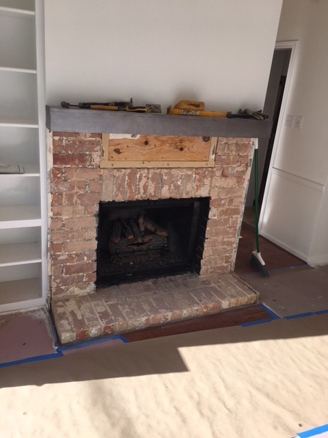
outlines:
[[[269,138],[272,122],[245,118],[170,116],[46,106],[46,127],[53,132]]]

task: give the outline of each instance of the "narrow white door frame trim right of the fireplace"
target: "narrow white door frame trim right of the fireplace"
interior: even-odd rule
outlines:
[[[275,157],[277,155],[278,149],[280,147],[283,147],[281,142],[280,142],[280,137],[281,137],[281,133],[282,133],[282,127],[284,126],[284,120],[286,119],[286,106],[287,106],[287,101],[288,101],[288,97],[289,97],[289,93],[290,93],[290,88],[291,88],[290,86],[292,84],[292,79],[294,79],[293,78],[293,71],[295,70],[298,43],[299,43],[298,40],[277,41],[275,43],[275,50],[291,49],[291,53],[290,53],[288,72],[287,72],[286,83],[285,83],[285,88],[284,88],[284,96],[282,97],[282,105],[280,107],[279,118],[278,118],[278,123],[277,123],[277,131],[275,133],[275,141],[273,142],[273,150],[272,150],[272,155],[271,155],[269,172],[268,172],[268,176],[267,176],[267,183],[265,185],[263,201],[262,201],[262,206],[261,206],[261,211],[260,211],[260,218],[258,221],[259,233],[261,232],[261,229],[262,229],[264,213],[265,213],[265,209],[267,207],[268,198],[270,196],[271,179],[272,179],[273,170],[275,169]]]

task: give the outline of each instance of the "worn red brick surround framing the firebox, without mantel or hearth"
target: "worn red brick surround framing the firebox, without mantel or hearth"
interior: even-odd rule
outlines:
[[[101,168],[102,136],[52,133],[51,294],[95,289],[100,202],[210,198],[200,276],[234,270],[249,179],[247,138],[218,138],[213,168]]]

